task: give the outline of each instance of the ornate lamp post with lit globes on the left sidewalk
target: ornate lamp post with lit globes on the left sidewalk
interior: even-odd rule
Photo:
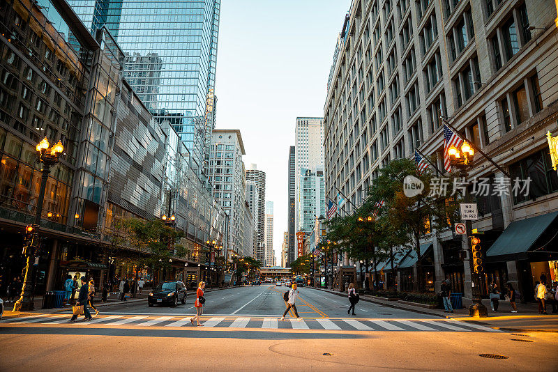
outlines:
[[[32,226],[27,226],[26,232],[31,234],[30,244],[24,247],[23,254],[27,256],[27,264],[25,265],[25,279],[22,288],[22,294],[20,300],[17,300],[13,306],[13,311],[32,311],[34,309],[33,303],[33,265],[31,265],[31,255],[36,254],[36,249],[38,248],[38,232],[40,227],[40,215],[43,212],[43,201],[45,201],[45,189],[47,188],[48,175],[50,173],[50,167],[58,164],[60,154],[64,150],[64,146],[61,141],[54,144],[52,147],[45,137],[43,141],[40,141],[37,146],[37,164],[43,163],[43,169],[41,169],[40,178],[40,189],[39,196],[37,200],[37,209],[35,214],[35,223]]]

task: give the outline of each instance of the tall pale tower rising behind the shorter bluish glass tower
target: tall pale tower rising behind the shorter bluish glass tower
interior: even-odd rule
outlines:
[[[301,200],[303,200],[301,186],[301,177],[306,171],[316,171],[320,169],[323,172],[324,167],[324,119],[323,118],[296,118],[296,126],[294,128],[295,146],[294,146],[294,209],[296,213],[301,210]],[[324,201],[319,201],[323,202]],[[313,217],[313,215],[312,215]],[[319,216],[318,216],[319,217]],[[301,219],[294,219],[295,232],[301,230]]]

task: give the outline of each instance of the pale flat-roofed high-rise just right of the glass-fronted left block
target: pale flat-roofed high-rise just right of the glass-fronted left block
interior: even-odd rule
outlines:
[[[245,155],[240,130],[216,129],[211,134],[209,180],[213,197],[229,215],[228,258],[232,254],[252,256],[252,213],[246,203]],[[248,221],[246,221],[248,219]]]

